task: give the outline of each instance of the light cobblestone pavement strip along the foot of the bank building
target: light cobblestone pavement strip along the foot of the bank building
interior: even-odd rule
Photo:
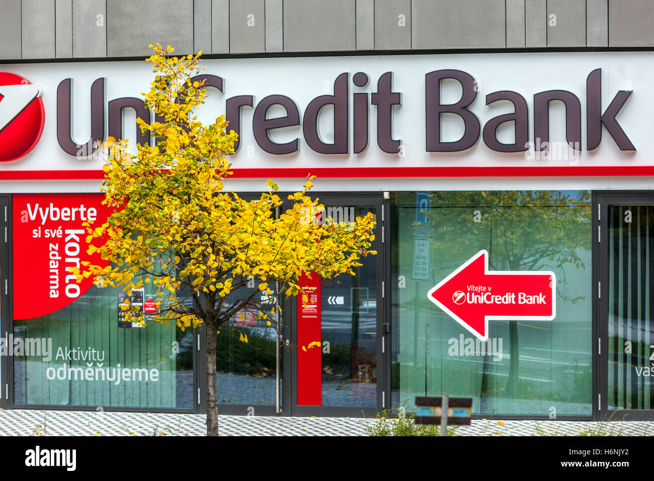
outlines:
[[[222,436],[366,436],[375,423],[362,418],[220,416]],[[654,434],[654,422],[498,421],[473,419],[456,434],[464,436],[534,436]],[[203,414],[152,414],[54,410],[0,410],[2,436],[203,436]]]

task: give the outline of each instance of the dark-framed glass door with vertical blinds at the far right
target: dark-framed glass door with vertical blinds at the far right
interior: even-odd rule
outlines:
[[[599,419],[649,419],[654,410],[654,196],[598,196],[598,216]]]

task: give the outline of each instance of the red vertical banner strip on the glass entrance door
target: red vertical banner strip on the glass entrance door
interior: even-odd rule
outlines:
[[[322,404],[322,359],[320,353],[320,276],[300,276],[304,294],[298,294],[298,404]]]

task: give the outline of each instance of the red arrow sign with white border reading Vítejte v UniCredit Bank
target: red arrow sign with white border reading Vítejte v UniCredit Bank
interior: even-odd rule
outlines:
[[[489,319],[554,319],[556,286],[557,277],[550,271],[489,272],[488,253],[479,251],[427,296],[452,319],[486,341]]]

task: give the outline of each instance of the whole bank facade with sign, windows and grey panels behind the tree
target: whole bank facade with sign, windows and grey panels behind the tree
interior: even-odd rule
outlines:
[[[67,273],[86,255],[82,223],[107,215],[94,141],[152,141],[135,120],[152,118],[143,46],[160,41],[204,51],[199,119],[225,114],[239,133],[226,189],[294,192],[311,173],[326,215],[377,221],[377,255],[319,279],[310,306],[284,302],[281,336],[247,313],[248,344],[218,334],[220,412],[374,416],[449,393],[479,417],[651,417],[654,38],[638,20],[651,1],[489,1],[456,20],[470,2],[343,0],[329,31],[320,2],[163,3],[190,33],[129,37],[126,1],[69,2],[70,24],[60,3],[12,3],[0,407],[205,409],[201,329],[126,323],[126,294]],[[52,50],[26,37],[50,9]],[[147,312],[151,296],[131,302]]]

